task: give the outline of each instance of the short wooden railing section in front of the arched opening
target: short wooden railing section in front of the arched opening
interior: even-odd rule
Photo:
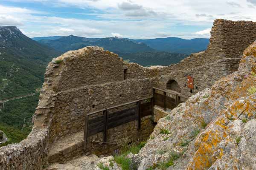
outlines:
[[[157,93],[161,91],[163,94]],[[168,95],[167,95],[168,94]],[[174,109],[179,103],[186,102],[188,97],[183,94],[168,89],[153,88],[154,105],[160,106],[165,111],[167,108]]]

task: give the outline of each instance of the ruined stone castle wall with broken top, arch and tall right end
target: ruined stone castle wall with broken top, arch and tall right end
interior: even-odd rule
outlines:
[[[69,51],[53,59],[45,74],[32,133],[20,144],[0,148],[0,169],[42,169],[48,165],[49,146],[82,131],[87,113],[151,96],[152,87],[166,88],[171,79],[185,96],[211,87],[237,70],[242,52],[256,39],[256,23],[215,20],[211,35],[206,51],[165,67],[125,63],[98,47]],[[187,75],[194,78],[194,89],[187,88]]]

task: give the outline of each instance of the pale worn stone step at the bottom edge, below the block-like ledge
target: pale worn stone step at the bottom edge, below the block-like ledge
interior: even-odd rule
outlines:
[[[90,156],[81,156],[66,164],[52,164],[46,170],[93,170],[98,162],[99,157],[92,154]]]

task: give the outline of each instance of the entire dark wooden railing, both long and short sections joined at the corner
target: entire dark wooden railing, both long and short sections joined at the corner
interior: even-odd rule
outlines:
[[[163,94],[157,93],[161,91]],[[168,95],[167,95],[168,94]],[[106,142],[107,130],[125,123],[137,120],[137,129],[140,129],[141,118],[152,116],[154,119],[154,105],[173,109],[181,102],[186,102],[188,98],[176,91],[153,88],[153,96],[134,100],[132,102],[116,105],[110,108],[101,109],[85,116],[84,124],[84,150],[86,150],[87,139],[97,133],[102,132],[102,142]],[[129,106],[136,103],[136,106]],[[111,112],[111,110],[114,110]]]

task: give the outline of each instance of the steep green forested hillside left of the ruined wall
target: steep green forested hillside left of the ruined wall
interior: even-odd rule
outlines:
[[[16,27],[0,27],[0,130],[8,136],[7,143],[20,142],[29,134],[38,104],[36,89],[44,82],[47,63],[60,54]],[[12,100],[28,94],[34,95]]]

